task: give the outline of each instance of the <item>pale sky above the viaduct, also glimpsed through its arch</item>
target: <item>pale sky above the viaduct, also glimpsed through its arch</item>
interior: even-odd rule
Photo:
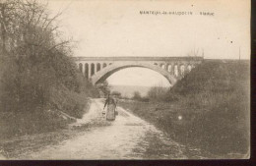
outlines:
[[[77,41],[74,56],[187,56],[196,50],[206,59],[238,59],[240,49],[241,59],[250,59],[249,0],[50,0],[49,8],[52,14],[63,11],[61,29]],[[125,76],[133,70],[120,72]],[[152,71],[144,72],[136,77],[156,78]],[[118,83],[117,74],[112,82]],[[156,80],[163,82],[160,78]]]

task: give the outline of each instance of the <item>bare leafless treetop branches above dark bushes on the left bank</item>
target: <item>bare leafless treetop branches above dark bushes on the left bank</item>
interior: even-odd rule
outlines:
[[[48,54],[71,42],[61,37],[58,26],[54,24],[62,13],[50,17],[47,4],[39,4],[35,0],[10,0],[1,3],[0,7],[3,52],[36,56],[38,52]]]

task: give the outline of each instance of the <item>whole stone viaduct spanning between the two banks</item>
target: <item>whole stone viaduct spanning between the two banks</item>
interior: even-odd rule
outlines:
[[[203,61],[203,57],[74,57],[78,69],[92,83],[102,83],[113,73],[131,67],[154,70],[175,84]]]

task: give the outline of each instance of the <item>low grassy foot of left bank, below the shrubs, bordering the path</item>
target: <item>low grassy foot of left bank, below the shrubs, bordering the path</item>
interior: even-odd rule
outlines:
[[[57,99],[57,101],[62,101],[59,105],[62,105],[63,109],[1,113],[0,138],[40,134],[64,129],[68,124],[74,122],[74,119],[63,117],[61,112],[67,113],[74,118],[82,118],[88,111],[90,104],[86,96],[75,92],[69,92],[65,95],[65,98]]]

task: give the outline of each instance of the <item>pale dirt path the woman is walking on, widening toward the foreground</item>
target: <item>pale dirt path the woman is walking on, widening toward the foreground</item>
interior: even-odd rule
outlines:
[[[92,100],[83,119],[66,131],[67,138],[24,148],[16,159],[186,159],[184,146],[167,138],[153,125],[118,107],[113,122],[102,116],[102,99]],[[89,128],[90,127],[90,128]],[[76,130],[79,129],[79,130]],[[54,138],[53,138],[54,139]],[[49,140],[52,141],[52,140]],[[30,141],[28,141],[30,142]],[[37,142],[40,145],[41,142]],[[34,143],[36,144],[36,143]]]

